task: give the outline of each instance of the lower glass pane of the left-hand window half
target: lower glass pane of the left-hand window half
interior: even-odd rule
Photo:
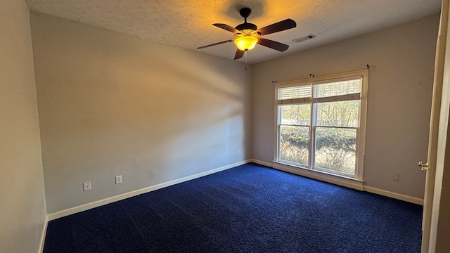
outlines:
[[[307,165],[308,144],[308,126],[280,126],[280,160]]]

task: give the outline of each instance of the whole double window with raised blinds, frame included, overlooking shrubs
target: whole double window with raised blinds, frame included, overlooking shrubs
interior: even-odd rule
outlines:
[[[362,180],[368,72],[276,85],[276,162]]]

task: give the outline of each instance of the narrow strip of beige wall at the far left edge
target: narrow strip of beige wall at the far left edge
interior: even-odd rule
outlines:
[[[0,2],[0,252],[37,252],[46,217],[25,1]]]

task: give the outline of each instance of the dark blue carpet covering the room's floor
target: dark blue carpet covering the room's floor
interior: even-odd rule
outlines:
[[[245,164],[49,222],[52,252],[420,252],[422,207]]]

